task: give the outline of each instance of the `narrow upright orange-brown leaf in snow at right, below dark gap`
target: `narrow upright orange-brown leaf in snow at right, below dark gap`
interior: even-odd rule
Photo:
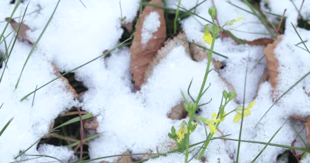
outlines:
[[[278,59],[275,57],[274,49],[276,48],[277,44],[281,41],[281,38],[277,38],[274,40],[272,44],[268,44],[264,49],[264,54],[267,60],[267,68],[269,71],[269,83],[273,88],[273,94],[275,95],[275,88],[278,82],[278,67],[279,62]]]

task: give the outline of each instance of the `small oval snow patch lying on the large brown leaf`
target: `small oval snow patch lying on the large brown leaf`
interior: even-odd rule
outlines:
[[[161,25],[159,20],[159,14],[156,11],[152,11],[145,17],[141,32],[141,44],[145,46],[150,39],[153,38],[153,33],[157,32]]]

